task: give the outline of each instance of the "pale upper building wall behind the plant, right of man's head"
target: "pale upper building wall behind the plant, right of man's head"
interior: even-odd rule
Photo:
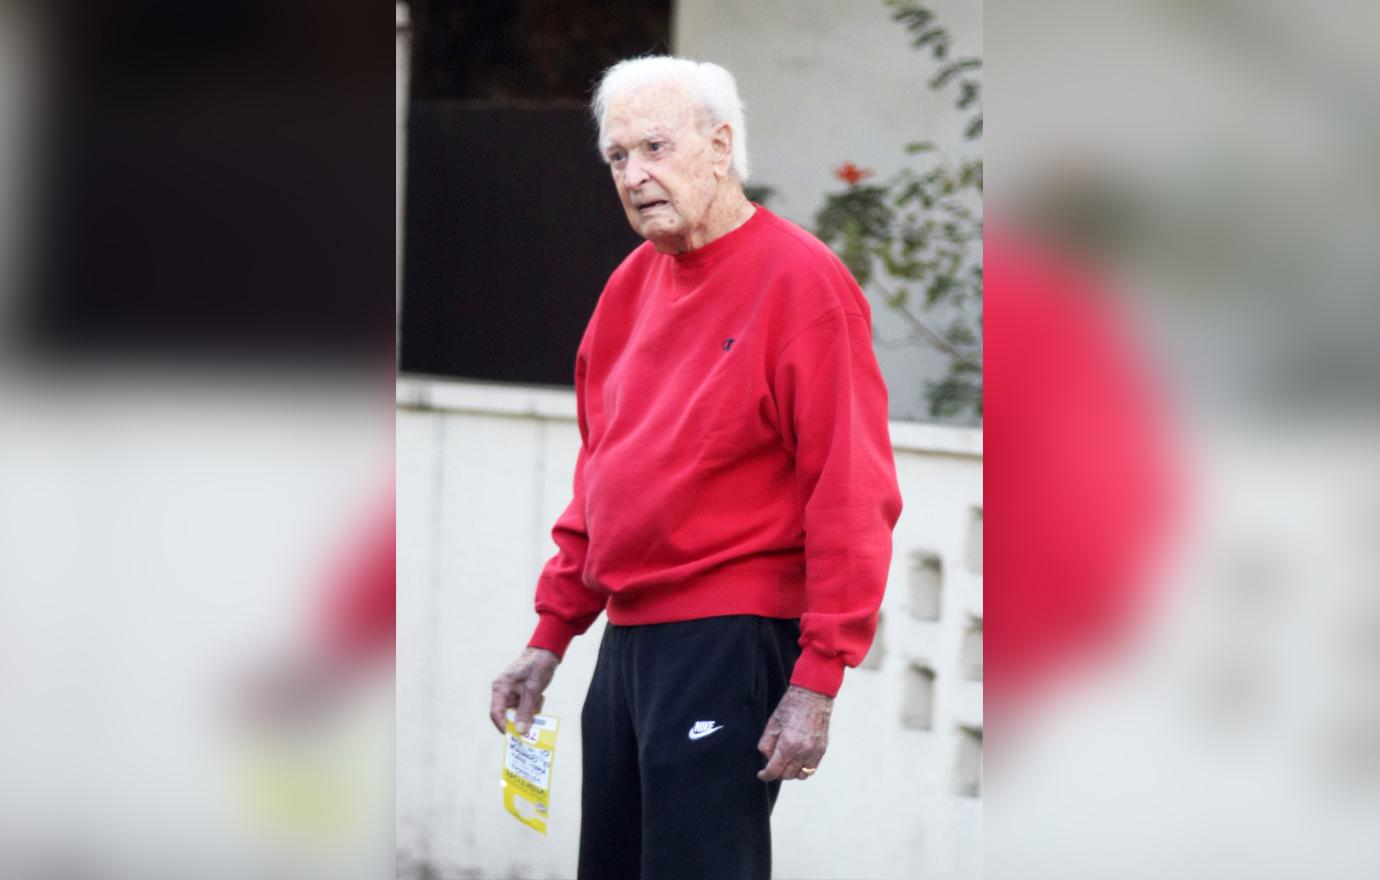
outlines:
[[[954,54],[981,54],[983,4],[937,0]],[[962,137],[967,113],[952,94],[934,92],[929,54],[911,48],[909,33],[882,0],[680,0],[672,51],[733,72],[747,103],[752,183],[776,188],[769,207],[811,228],[824,194],[842,189],[834,168],[851,161],[878,179],[897,171],[912,141],[934,141],[955,160],[980,145]],[[874,299],[882,339],[907,326]],[[897,418],[923,418],[925,377],[947,361],[929,348],[879,348]]]

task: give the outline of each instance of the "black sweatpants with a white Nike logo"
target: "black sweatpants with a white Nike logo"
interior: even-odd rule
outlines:
[[[758,741],[800,655],[798,621],[604,630],[581,713],[580,880],[767,880],[780,782]]]

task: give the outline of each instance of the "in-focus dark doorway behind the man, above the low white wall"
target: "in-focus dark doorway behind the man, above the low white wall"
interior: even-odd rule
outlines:
[[[657,0],[413,4],[404,372],[570,385],[609,273],[639,244],[585,109],[668,51]]]

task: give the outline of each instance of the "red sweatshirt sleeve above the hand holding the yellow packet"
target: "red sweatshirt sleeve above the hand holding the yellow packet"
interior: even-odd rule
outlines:
[[[564,655],[570,640],[589,629],[609,597],[584,583],[589,535],[585,530],[585,461],[589,452],[589,425],[585,415],[585,359],[575,361],[575,404],[580,421],[580,457],[575,459],[574,497],[551,530],[559,550],[537,581],[537,629],[530,647]]]

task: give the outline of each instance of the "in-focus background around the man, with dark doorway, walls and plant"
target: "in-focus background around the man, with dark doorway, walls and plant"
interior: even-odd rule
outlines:
[[[981,10],[976,3],[397,4],[397,870],[570,877],[603,619],[546,692],[549,836],[501,806],[489,687],[570,501],[581,334],[640,239],[588,101],[611,63],[726,66],[751,196],[865,281],[905,501],[829,771],[787,786],[778,877],[981,876]]]

